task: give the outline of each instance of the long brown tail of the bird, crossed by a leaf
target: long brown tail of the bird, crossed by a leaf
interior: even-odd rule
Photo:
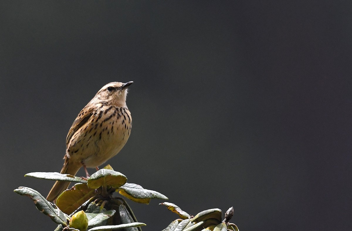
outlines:
[[[82,167],[81,164],[69,163],[69,158],[65,157],[64,166],[61,169],[62,174],[76,175],[77,171]],[[65,191],[71,182],[69,181],[56,181],[54,186],[52,186],[46,200],[56,202],[56,198]]]

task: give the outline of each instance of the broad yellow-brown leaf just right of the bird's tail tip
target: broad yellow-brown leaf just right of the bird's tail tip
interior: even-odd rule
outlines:
[[[63,212],[71,214],[80,207],[83,202],[97,194],[98,193],[95,192],[95,189],[88,188],[87,184],[77,183],[71,189],[67,189],[58,196],[56,205]]]

